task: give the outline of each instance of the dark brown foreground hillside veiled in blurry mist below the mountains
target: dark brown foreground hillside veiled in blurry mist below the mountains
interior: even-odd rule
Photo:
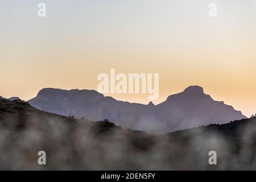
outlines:
[[[255,170],[256,118],[149,135],[1,98],[0,146],[0,169]],[[38,164],[42,150],[46,166]]]

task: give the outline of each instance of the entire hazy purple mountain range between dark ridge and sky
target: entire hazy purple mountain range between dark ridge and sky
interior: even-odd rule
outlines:
[[[200,86],[189,86],[159,105],[117,101],[94,90],[46,88],[28,101],[32,106],[60,115],[92,121],[109,119],[124,128],[167,133],[210,123],[246,118],[224,102],[214,101]]]

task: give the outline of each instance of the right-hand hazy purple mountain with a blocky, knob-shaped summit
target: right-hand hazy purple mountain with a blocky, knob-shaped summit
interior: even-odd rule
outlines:
[[[157,107],[162,120],[172,122],[174,130],[246,118],[241,111],[223,101],[214,101],[200,86],[189,86],[184,92],[169,96]]]

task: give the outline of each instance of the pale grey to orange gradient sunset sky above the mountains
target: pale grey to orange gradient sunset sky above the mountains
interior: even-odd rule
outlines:
[[[47,6],[38,17],[38,3]],[[209,3],[217,17],[208,16]],[[97,89],[97,75],[159,73],[159,100],[200,85],[214,100],[256,113],[256,1],[0,2],[0,95]],[[112,94],[147,104],[147,94]]]

